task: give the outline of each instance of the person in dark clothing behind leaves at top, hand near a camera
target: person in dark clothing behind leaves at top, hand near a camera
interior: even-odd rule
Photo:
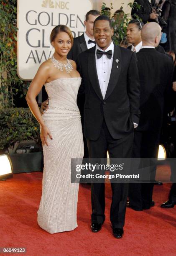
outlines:
[[[143,23],[147,23],[147,22],[154,21],[158,17],[158,14],[156,14],[152,10],[152,5],[153,3],[155,3],[155,0],[135,0],[134,2],[136,2],[138,5],[141,5],[141,6],[140,6],[140,9],[137,9],[135,7],[132,8],[131,10],[132,18],[135,19],[136,18],[135,14],[137,14],[139,18],[141,18]]]

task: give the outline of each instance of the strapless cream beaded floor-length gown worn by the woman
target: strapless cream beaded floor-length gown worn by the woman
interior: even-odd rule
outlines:
[[[38,225],[49,233],[77,227],[79,184],[71,183],[71,158],[82,158],[84,146],[77,93],[80,77],[59,78],[45,84],[49,97],[43,120],[53,140],[43,146],[44,169]]]

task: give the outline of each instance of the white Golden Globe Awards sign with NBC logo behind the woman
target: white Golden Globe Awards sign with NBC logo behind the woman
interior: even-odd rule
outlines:
[[[80,36],[91,9],[90,0],[18,0],[18,76],[32,80],[40,64],[52,56],[49,36],[55,26],[64,24],[74,37]]]

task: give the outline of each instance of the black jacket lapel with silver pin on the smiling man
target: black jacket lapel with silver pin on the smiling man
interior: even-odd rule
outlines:
[[[117,61],[118,60],[118,63]],[[111,69],[111,74],[110,74],[110,80],[107,86],[107,91],[106,91],[106,95],[105,95],[105,100],[110,96],[110,94],[112,93],[112,91],[114,90],[114,88],[117,85],[119,76],[120,76],[120,70],[121,70],[121,51],[120,51],[120,47],[114,45],[114,56],[113,56],[113,60],[112,60],[112,69]],[[118,68],[117,68],[118,66]]]

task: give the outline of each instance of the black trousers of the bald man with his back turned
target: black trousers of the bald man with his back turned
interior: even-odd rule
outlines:
[[[155,131],[135,131],[133,158],[157,158],[160,133]],[[151,169],[150,179],[154,180],[156,167]],[[152,205],[153,183],[129,184],[128,197],[135,210],[150,208]]]

